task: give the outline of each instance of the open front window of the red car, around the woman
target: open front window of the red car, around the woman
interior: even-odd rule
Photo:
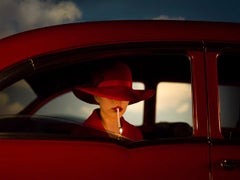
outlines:
[[[0,114],[54,118],[81,125],[98,106],[79,100],[72,89],[89,83],[99,65],[122,61],[132,71],[134,89],[156,92],[149,100],[129,105],[124,118],[142,131],[145,140],[192,137],[190,57],[184,51],[133,47],[76,49],[26,60],[21,68],[13,67],[18,71],[11,70],[17,72],[12,79],[18,80],[0,92]],[[35,61],[34,70],[29,69]]]

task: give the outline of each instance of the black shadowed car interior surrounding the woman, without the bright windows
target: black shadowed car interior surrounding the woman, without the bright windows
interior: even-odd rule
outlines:
[[[92,72],[99,66],[112,61],[122,61],[128,64],[132,70],[133,80],[144,83],[146,89],[156,90],[157,84],[161,81],[191,83],[190,60],[186,52],[174,48],[166,50],[161,44],[145,43],[75,49],[33,57],[2,72],[2,74],[10,74],[8,76],[11,78],[8,81],[1,79],[0,89],[20,79],[25,79],[37,94],[37,98],[22,109],[18,116],[33,115],[42,104],[58,94],[71,91],[77,85],[88,83]],[[156,96],[145,101],[144,123],[139,127],[145,139],[179,138],[193,135],[192,127],[184,122],[155,123],[155,108]],[[1,132],[9,130],[11,123],[7,123],[8,119],[1,119],[0,124],[4,124],[0,128]],[[71,121],[56,123],[56,121],[49,121],[49,118],[39,125],[38,117],[37,121],[33,118],[34,123],[26,127],[21,126],[21,123],[23,120],[29,122],[29,118],[14,117],[12,119],[18,126],[18,131],[20,127],[22,131],[29,130],[31,127],[34,130],[43,130],[40,131],[41,133],[50,131],[55,134],[71,134],[72,126],[76,126]]]

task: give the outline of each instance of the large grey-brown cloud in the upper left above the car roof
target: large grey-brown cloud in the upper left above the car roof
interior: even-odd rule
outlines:
[[[0,38],[80,18],[81,10],[71,1],[3,0],[0,1]]]

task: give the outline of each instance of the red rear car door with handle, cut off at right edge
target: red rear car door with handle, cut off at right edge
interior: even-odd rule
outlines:
[[[239,179],[239,44],[209,44],[208,47],[206,78],[212,179]]]

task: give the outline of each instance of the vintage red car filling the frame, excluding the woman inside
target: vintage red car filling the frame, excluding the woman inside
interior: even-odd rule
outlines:
[[[0,58],[0,179],[240,178],[240,24],[58,25],[1,39]],[[72,89],[115,60],[156,90],[125,114],[143,141],[82,126],[96,107]]]

